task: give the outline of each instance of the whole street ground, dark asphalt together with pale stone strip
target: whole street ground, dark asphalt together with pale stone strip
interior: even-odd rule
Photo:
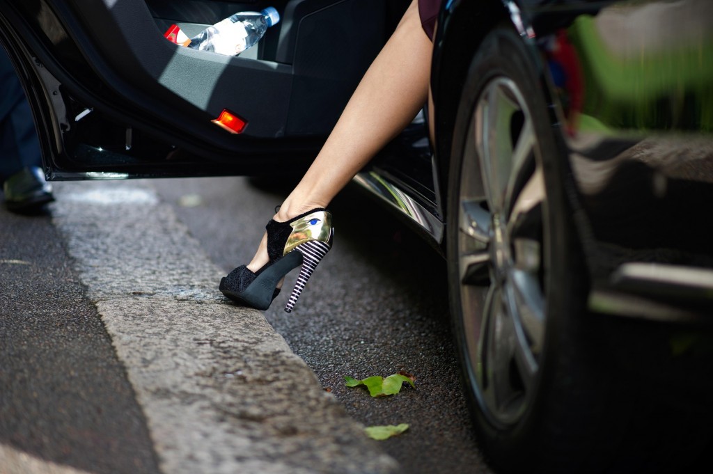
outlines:
[[[44,215],[0,209],[1,473],[491,472],[443,259],[375,202],[334,202],[334,249],[292,314],[284,294],[263,315],[217,284],[287,187],[55,187]],[[416,388],[396,396],[344,385],[401,370]],[[389,440],[363,433],[399,423],[409,430]]]

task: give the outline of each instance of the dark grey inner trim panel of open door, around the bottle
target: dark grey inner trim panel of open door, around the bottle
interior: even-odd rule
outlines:
[[[245,135],[259,138],[327,135],[386,36],[386,9],[377,0],[147,0],[147,6],[160,31],[178,24],[189,37],[237,11],[277,8],[281,21],[257,46],[235,57],[176,51],[158,78],[211,117],[234,110],[248,121]]]

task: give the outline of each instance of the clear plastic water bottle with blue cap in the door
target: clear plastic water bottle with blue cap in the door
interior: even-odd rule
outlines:
[[[260,41],[270,26],[279,22],[272,6],[262,11],[240,11],[190,38],[189,48],[235,56]]]

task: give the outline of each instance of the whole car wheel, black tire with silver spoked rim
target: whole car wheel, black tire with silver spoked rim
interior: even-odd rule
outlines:
[[[562,356],[580,344],[569,326],[583,313],[586,282],[553,120],[531,63],[509,29],[489,34],[472,58],[453,135],[448,272],[456,345],[486,455],[506,471],[555,472],[557,462],[546,458],[559,440],[547,445],[545,432],[563,433],[570,423],[559,421],[572,400],[558,384],[563,371],[580,369]]]

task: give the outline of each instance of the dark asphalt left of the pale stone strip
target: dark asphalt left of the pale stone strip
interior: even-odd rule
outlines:
[[[77,470],[159,472],[125,369],[51,216],[0,208],[0,473]]]

